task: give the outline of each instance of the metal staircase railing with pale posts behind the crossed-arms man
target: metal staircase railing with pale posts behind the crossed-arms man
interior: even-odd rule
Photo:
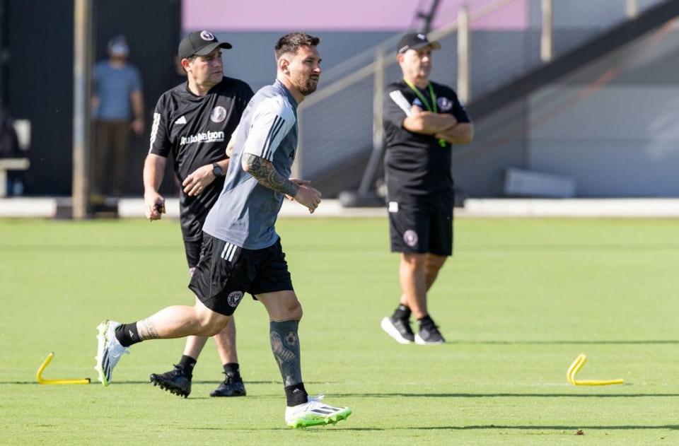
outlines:
[[[518,78],[661,0],[529,0],[525,29],[474,30],[475,22],[516,1],[489,0],[473,11],[463,5],[457,20],[429,33],[429,39],[439,40],[443,47],[435,54],[431,77],[455,85],[463,102]],[[585,16],[591,24],[581,27],[580,18]],[[294,175],[322,177],[371,150],[381,151],[383,91],[386,83],[401,77],[395,63],[399,38],[390,37],[324,72],[326,86],[309,96],[298,111]],[[362,192],[370,187],[378,160],[373,156],[368,163]]]

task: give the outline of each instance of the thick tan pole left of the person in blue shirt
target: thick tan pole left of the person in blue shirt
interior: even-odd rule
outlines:
[[[92,0],[74,0],[73,218],[87,217],[89,198]]]

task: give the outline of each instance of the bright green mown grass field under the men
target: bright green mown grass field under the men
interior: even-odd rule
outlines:
[[[132,348],[111,387],[92,377],[95,327],[190,303],[178,223],[0,221],[0,444],[642,445],[679,442],[676,221],[473,220],[430,293],[443,346],[401,346],[379,322],[397,303],[383,219],[279,221],[305,316],[311,393],[348,405],[337,426],[288,430],[259,303],[236,313],[248,397],[214,399],[214,344],[188,399],[148,384],[183,341]],[[574,387],[579,378],[625,385]],[[584,435],[576,435],[582,430]]]

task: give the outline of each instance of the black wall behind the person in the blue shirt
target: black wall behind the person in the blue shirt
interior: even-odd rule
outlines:
[[[4,100],[12,117],[29,119],[31,167],[25,194],[71,194],[73,133],[72,0],[4,0],[6,80]],[[153,107],[178,82],[173,57],[181,36],[180,0],[93,1],[93,61],[105,59],[111,37],[125,35],[129,61],[144,85],[146,129],[131,136],[123,194],[142,192],[141,169],[148,151]],[[170,172],[168,172],[168,175]],[[163,193],[172,194],[170,177]]]

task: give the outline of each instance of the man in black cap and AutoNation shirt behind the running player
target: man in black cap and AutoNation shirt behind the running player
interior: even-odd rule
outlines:
[[[216,203],[228,167],[227,141],[236,129],[243,110],[253,97],[247,83],[224,77],[219,42],[208,31],[187,35],[179,44],[178,58],[187,82],[161,95],[153,113],[151,148],[144,163],[144,206],[146,218],[158,220],[165,212],[165,199],[158,193],[168,155],[182,184],[180,220],[189,273],[200,257],[202,226]],[[211,397],[245,396],[238,369],[236,324],[231,323],[214,336],[224,364],[226,379]],[[173,370],[151,374],[153,385],[188,397],[192,371],[207,338],[190,336],[184,354]]]

